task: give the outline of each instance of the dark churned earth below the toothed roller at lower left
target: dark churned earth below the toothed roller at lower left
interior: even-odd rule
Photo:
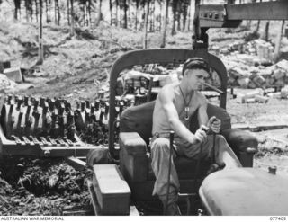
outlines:
[[[0,166],[0,215],[63,215],[89,205],[88,172],[61,159],[11,159]]]

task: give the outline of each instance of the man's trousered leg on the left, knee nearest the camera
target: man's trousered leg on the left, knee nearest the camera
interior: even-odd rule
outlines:
[[[156,176],[153,195],[158,195],[163,206],[167,203],[167,214],[178,215],[179,209],[176,205],[180,184],[175,169],[173,158],[171,160],[170,185],[168,202],[166,192],[168,189],[168,169],[169,169],[170,142],[167,138],[156,138],[151,145],[152,169]]]

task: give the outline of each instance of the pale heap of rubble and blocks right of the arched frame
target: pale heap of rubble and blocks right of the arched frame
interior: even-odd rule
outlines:
[[[288,61],[274,64],[274,46],[265,40],[235,41],[226,48],[211,47],[227,67],[228,84],[242,88],[284,87],[288,84]]]

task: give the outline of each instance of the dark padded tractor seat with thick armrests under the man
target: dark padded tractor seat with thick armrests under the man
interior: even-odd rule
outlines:
[[[151,158],[149,157],[149,138],[152,137],[152,117],[155,101],[147,102],[138,106],[133,106],[121,114],[120,120],[120,169],[126,181],[130,184],[133,191],[142,189],[141,187],[150,187],[151,191],[139,192],[139,195],[145,198],[143,193],[151,195],[155,175],[151,169]],[[221,120],[221,129],[223,136],[227,139],[229,145],[243,166],[251,166],[253,163],[253,152],[247,153],[247,147],[257,149],[257,138],[246,131],[231,129],[229,114],[222,108],[208,104],[207,114],[216,116]],[[190,130],[195,132],[199,128],[197,113],[193,114],[190,122]],[[232,147],[233,146],[233,147]],[[255,150],[254,149],[254,150]],[[175,168],[178,173],[180,187],[182,192],[191,191],[191,182],[195,178],[195,169],[197,160],[189,159],[184,156],[175,158]],[[202,178],[207,172],[211,162],[207,159],[201,160],[200,172],[198,178]],[[188,169],[188,170],[187,170]],[[144,185],[148,182],[148,186]],[[136,187],[135,189],[133,189]],[[187,189],[186,189],[187,188]]]

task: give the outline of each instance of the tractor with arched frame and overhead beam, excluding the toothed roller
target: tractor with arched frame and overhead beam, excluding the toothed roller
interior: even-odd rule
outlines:
[[[229,1],[229,4],[199,2],[196,1],[192,49],[134,50],[122,55],[112,66],[109,152],[113,158],[119,160],[119,167],[111,164],[94,165],[94,182],[91,182],[94,189],[91,188],[90,191],[94,197],[94,209],[100,214],[133,215],[134,205],[138,209],[146,206],[151,214],[162,214],[160,201],[152,196],[156,178],[151,170],[149,147],[154,100],[158,89],[149,87],[144,102],[123,111],[118,118],[114,104],[119,93],[117,79],[121,72],[133,66],[147,64],[160,64],[175,69],[186,59],[193,57],[207,61],[214,78],[218,79],[218,87],[210,89],[218,93],[219,103],[209,103],[207,113],[209,117],[216,116],[221,120],[220,134],[226,138],[243,167],[220,170],[205,177],[209,163],[176,157],[174,161],[180,180],[181,190],[178,195],[182,213],[247,216],[285,215],[288,212],[288,192],[284,189],[288,185],[288,177],[277,174],[275,167],[269,167],[267,172],[253,168],[257,138],[247,131],[231,129],[229,113],[226,111],[227,70],[220,58],[208,52],[209,38],[206,33],[213,27],[237,27],[242,20],[287,19],[288,4],[285,1],[251,4],[233,4],[233,1]],[[190,123],[192,132],[199,127],[196,119],[194,115]],[[116,124],[120,124],[119,146],[115,143]],[[107,189],[110,186],[111,192]]]

